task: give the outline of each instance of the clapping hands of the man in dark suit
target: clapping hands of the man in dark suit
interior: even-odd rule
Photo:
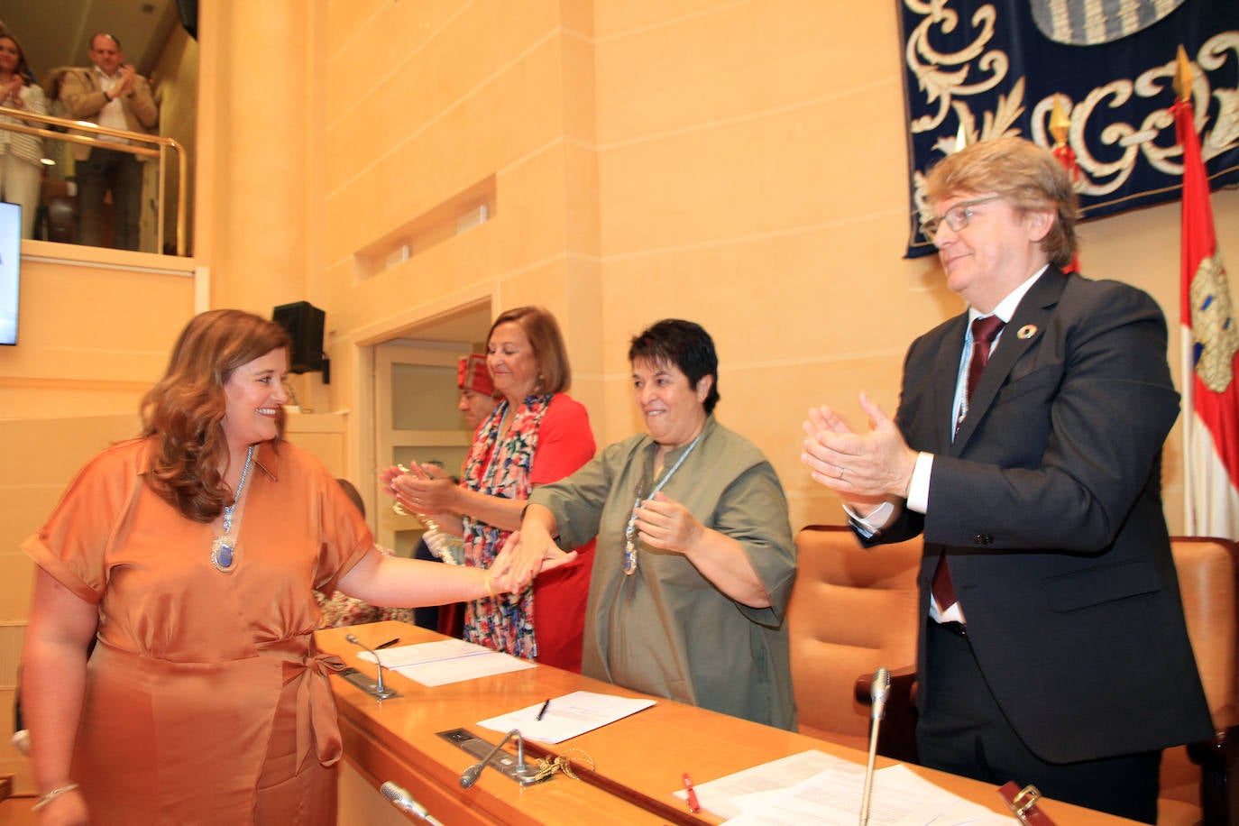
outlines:
[[[895,422],[867,395],[860,406],[870,419],[867,433],[855,432],[833,407],[809,410],[800,461],[810,476],[838,490],[852,505],[876,504],[887,495],[906,497],[917,452]]]

